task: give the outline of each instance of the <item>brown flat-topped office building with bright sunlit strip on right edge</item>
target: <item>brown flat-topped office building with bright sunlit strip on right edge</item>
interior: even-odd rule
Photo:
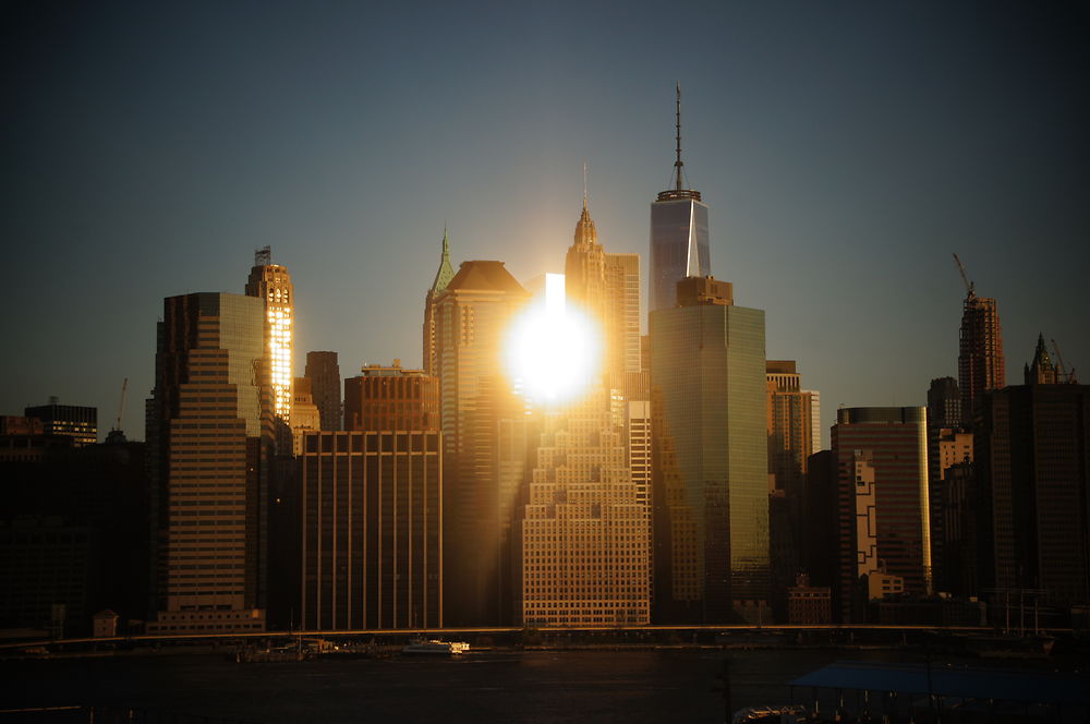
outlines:
[[[841,408],[833,426],[841,623],[865,623],[869,580],[931,593],[927,409]],[[877,590],[882,590],[881,587]]]

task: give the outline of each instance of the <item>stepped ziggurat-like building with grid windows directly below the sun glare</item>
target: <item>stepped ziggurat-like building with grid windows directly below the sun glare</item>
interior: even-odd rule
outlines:
[[[650,520],[609,390],[541,414],[522,520],[524,625],[646,625]]]

